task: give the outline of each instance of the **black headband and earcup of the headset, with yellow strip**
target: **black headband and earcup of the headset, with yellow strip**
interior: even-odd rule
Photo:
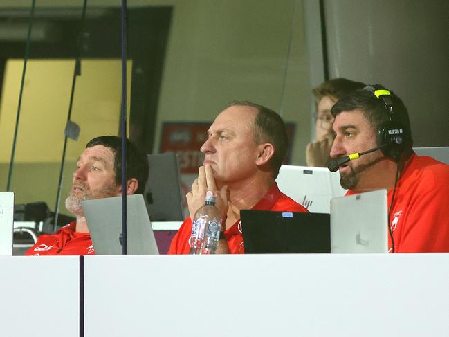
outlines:
[[[370,91],[383,102],[388,113],[388,120],[379,125],[377,146],[383,146],[382,153],[397,163],[401,153],[410,143],[410,134],[407,127],[399,120],[397,113],[394,113],[392,93],[379,84],[370,84],[365,86],[363,90]]]

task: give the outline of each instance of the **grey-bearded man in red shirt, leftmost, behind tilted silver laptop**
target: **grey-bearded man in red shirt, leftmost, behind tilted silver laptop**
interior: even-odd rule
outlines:
[[[101,136],[87,143],[78,158],[66,199],[66,208],[76,215],[76,221],[53,235],[41,235],[25,255],[95,254],[81,202],[122,195],[121,158],[121,138]],[[147,177],[147,157],[127,140],[127,194],[143,193]]]

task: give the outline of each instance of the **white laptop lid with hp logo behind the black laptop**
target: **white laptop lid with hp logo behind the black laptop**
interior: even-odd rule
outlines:
[[[340,174],[327,167],[282,165],[276,179],[284,194],[313,213],[331,211],[331,198],[345,195]]]

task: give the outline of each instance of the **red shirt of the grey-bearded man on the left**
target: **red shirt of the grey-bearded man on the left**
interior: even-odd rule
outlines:
[[[93,255],[89,233],[75,232],[76,222],[62,227],[56,234],[39,236],[36,244],[25,255]]]

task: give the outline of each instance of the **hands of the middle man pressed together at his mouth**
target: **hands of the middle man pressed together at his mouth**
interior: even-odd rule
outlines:
[[[192,183],[192,190],[185,195],[192,221],[196,211],[204,205],[207,191],[215,192],[215,206],[221,213],[222,219],[228,212],[228,186],[223,186],[221,190],[217,190],[212,167],[205,165],[199,167],[198,178]],[[221,226],[225,226],[224,221],[222,221]]]

